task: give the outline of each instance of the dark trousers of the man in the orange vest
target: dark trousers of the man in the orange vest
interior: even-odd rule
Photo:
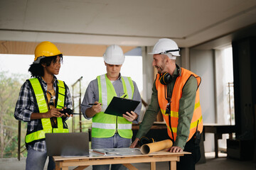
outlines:
[[[177,170],[194,170],[196,163],[201,158],[200,145],[195,144],[195,138],[186,142],[183,149],[184,152],[191,152],[191,154],[184,154],[180,157],[180,162],[177,162]]]

